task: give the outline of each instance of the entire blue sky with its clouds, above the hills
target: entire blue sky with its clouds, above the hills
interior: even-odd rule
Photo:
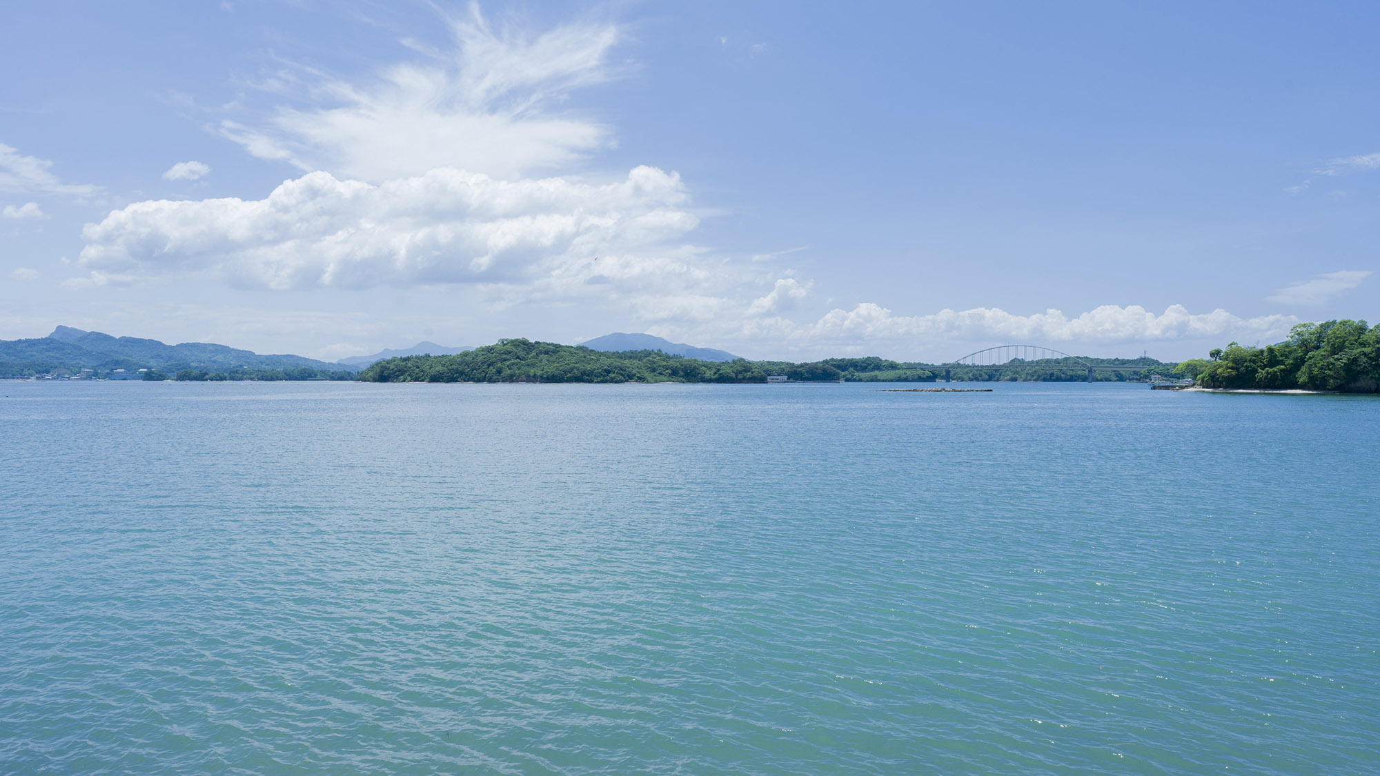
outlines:
[[[1377,318],[1373,3],[44,3],[0,338],[1165,359]]]

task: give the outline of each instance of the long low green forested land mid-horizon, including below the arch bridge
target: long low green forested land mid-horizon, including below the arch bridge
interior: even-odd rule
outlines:
[[[1089,359],[1163,370],[1155,359]],[[1085,369],[1061,362],[1029,362],[1028,367],[995,370],[949,367],[952,380],[1086,380]],[[1097,380],[1130,380],[1141,370],[1098,371]],[[366,382],[766,382],[785,376],[800,382],[934,382],[945,367],[894,362],[876,356],[795,363],[780,360],[708,362],[661,351],[592,351],[581,345],[500,340],[494,345],[447,356],[403,356],[381,360],[360,373]]]

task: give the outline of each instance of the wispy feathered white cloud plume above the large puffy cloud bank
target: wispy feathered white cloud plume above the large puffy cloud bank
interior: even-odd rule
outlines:
[[[308,75],[320,80],[295,95],[299,105],[261,120],[225,120],[219,131],[254,156],[374,184],[436,167],[511,178],[604,144],[603,126],[552,108],[571,90],[609,79],[604,59],[617,26],[495,30],[477,6],[447,23],[453,51],[424,50],[426,59],[363,84]],[[279,88],[297,80],[275,79]]]

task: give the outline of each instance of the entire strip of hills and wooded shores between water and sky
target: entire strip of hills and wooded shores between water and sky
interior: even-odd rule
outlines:
[[[1230,342],[1206,359],[1065,358],[1013,360],[1000,367],[896,362],[878,356],[817,362],[701,360],[658,349],[596,351],[523,338],[448,355],[374,362],[360,373],[302,356],[259,356],[225,345],[110,337],[59,326],[43,340],[0,342],[0,377],[360,382],[1098,382],[1148,381],[1155,388],[1272,394],[1380,392],[1380,326],[1365,320],[1300,323],[1272,345]],[[188,363],[192,362],[192,363]],[[55,366],[65,365],[65,366]],[[87,366],[90,365],[90,366]],[[142,366],[141,366],[142,365]],[[1087,366],[1100,366],[1087,370]],[[8,367],[8,369],[6,369]],[[1126,369],[1105,369],[1126,367]],[[1161,377],[1184,380],[1163,384]],[[774,380],[771,380],[774,381]],[[911,391],[919,391],[912,388]],[[929,391],[938,391],[930,388]]]

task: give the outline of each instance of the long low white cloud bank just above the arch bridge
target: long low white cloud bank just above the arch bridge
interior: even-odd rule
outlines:
[[[1162,315],[1141,307],[1103,305],[1076,318],[1057,309],[1035,315],[1013,315],[998,308],[962,312],[944,309],[931,315],[901,316],[880,305],[862,302],[853,309],[832,309],[813,324],[795,326],[782,319],[766,319],[756,326],[791,340],[814,344],[857,344],[887,340],[960,340],[967,342],[1079,342],[1119,344],[1210,337],[1283,336],[1299,319],[1292,315],[1239,318],[1223,309],[1192,315],[1172,305]]]

